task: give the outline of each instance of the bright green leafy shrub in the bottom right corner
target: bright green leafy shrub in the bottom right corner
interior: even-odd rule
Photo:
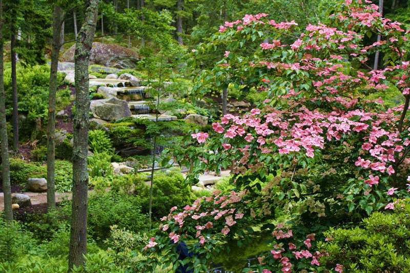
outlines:
[[[329,253],[320,259],[323,269],[341,264],[347,272],[410,272],[409,201],[395,204],[391,213],[372,213],[363,227],[324,232],[329,241],[318,243]]]

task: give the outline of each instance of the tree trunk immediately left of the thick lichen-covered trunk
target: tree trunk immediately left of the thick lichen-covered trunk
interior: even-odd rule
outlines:
[[[47,122],[47,210],[55,207],[54,160],[55,160],[55,99],[57,92],[58,52],[60,49],[60,28],[63,15],[61,8],[55,4],[53,13],[53,41],[51,44],[50,86],[48,96]]]

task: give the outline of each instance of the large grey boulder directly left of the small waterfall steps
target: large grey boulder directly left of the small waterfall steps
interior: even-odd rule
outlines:
[[[91,101],[90,110],[94,118],[111,121],[129,118],[132,116],[126,101],[112,97],[108,100]]]

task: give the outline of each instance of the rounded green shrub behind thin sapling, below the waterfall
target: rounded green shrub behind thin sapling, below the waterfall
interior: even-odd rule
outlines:
[[[153,219],[168,215],[173,206],[185,206],[193,201],[191,188],[183,183],[184,179],[178,170],[168,173],[155,173],[152,191]],[[145,182],[136,185],[135,191],[141,198],[142,212],[148,213],[150,187]]]

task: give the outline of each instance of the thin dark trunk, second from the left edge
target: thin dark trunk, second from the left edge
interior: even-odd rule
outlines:
[[[17,54],[14,51],[16,46],[16,33],[14,22],[11,23],[11,86],[13,90],[13,147],[15,151],[18,151],[18,101],[17,101],[17,71],[16,61]]]

